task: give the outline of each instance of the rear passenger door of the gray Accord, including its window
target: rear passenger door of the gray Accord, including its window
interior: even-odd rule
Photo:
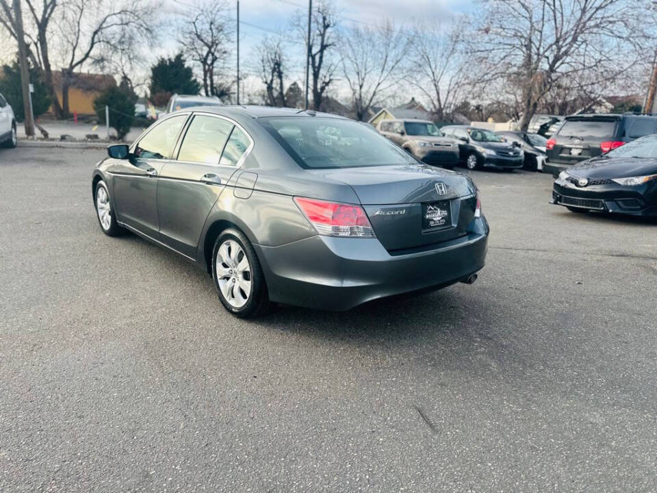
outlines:
[[[195,257],[207,215],[252,147],[246,131],[228,118],[194,114],[157,189],[163,242]]]

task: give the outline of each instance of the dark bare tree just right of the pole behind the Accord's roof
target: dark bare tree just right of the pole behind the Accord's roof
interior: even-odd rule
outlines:
[[[296,30],[308,42],[307,17],[298,12],[293,23]],[[326,90],[335,82],[339,62],[335,60],[336,44],[333,40],[337,18],[332,0],[318,0],[312,12],[312,31],[310,34],[310,84],[313,109],[321,110],[326,98]]]

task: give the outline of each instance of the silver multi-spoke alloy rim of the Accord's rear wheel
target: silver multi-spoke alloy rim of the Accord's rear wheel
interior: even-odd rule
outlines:
[[[217,252],[219,290],[229,305],[241,308],[251,296],[251,266],[244,249],[235,240],[224,241]]]

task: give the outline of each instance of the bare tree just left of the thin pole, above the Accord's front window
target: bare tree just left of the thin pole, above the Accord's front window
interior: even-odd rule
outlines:
[[[180,42],[190,60],[201,66],[203,91],[206,96],[224,95],[224,84],[216,79],[218,69],[227,61],[230,53],[227,45],[233,31],[226,15],[226,0],[207,1],[191,10],[185,18]]]

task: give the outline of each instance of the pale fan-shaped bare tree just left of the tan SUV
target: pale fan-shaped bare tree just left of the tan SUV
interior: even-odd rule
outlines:
[[[398,83],[409,45],[409,36],[389,21],[376,29],[355,27],[343,36],[342,68],[357,120],[363,121],[376,99]]]

